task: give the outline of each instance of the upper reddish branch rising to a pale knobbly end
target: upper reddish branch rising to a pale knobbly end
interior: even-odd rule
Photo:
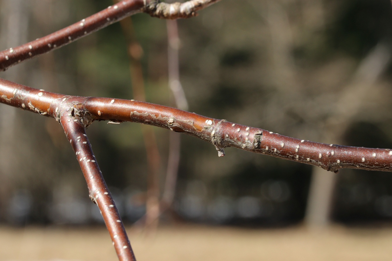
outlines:
[[[182,4],[166,4],[157,0],[122,0],[64,29],[1,51],[0,70],[5,71],[22,61],[58,49],[132,14],[145,12],[166,19],[189,18],[196,16],[196,11],[218,1],[220,0],[191,0]]]

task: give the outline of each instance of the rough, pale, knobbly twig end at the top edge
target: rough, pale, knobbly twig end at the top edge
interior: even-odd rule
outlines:
[[[215,4],[220,0],[190,0],[185,3],[162,3],[160,0],[145,0],[145,13],[163,19],[191,18],[197,16],[197,11]]]

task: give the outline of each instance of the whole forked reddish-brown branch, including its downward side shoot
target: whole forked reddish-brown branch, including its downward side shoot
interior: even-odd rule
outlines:
[[[220,156],[224,155],[223,148],[232,146],[312,164],[334,172],[338,172],[340,168],[392,171],[390,149],[358,148],[298,140],[259,128],[140,101],[55,94],[0,79],[0,103],[53,117],[62,123],[89,182],[90,196],[98,201],[108,230],[117,244],[120,260],[132,260],[131,247],[98,165],[92,162],[94,157],[87,137],[83,135],[85,128],[95,120],[140,122],[184,132],[211,142]],[[107,192],[107,198],[100,199],[98,196],[97,199],[97,194],[100,194],[98,191]],[[110,209],[111,205],[113,209]],[[123,234],[120,236],[120,233]]]

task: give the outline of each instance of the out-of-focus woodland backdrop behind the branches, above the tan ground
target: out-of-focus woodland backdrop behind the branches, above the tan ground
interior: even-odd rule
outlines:
[[[0,0],[0,49],[112,4]],[[174,23],[134,15],[0,77],[67,95],[145,99],[298,139],[391,148],[391,55],[390,0],[223,0]],[[58,122],[0,104],[0,133],[0,241],[12,245],[2,234],[11,238],[32,226],[87,234],[85,227],[103,228]],[[252,228],[277,242],[279,235],[334,231],[328,236],[335,244],[334,235],[347,242],[341,229],[353,227],[382,241],[381,227],[390,233],[382,242],[392,241],[390,173],[342,169],[336,175],[233,148],[221,158],[201,140],[129,122],[95,122],[87,134],[123,221],[158,233],[154,240],[165,233],[156,230],[159,220],[180,230],[207,225],[200,231],[223,237]],[[154,212],[158,205],[162,213]]]

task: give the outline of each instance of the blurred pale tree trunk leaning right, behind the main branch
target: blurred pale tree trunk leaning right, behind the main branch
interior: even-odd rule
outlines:
[[[336,99],[335,111],[325,124],[325,137],[322,140],[333,144],[344,144],[343,135],[347,128],[357,120],[361,111],[366,110],[365,101],[372,95],[382,100],[383,92],[374,88],[381,74],[386,70],[391,59],[391,50],[387,43],[379,43],[359,63],[351,82],[345,86]],[[374,105],[373,106],[377,106]],[[310,227],[325,227],[330,223],[333,191],[336,175],[319,167],[313,167],[309,189],[305,223]]]

